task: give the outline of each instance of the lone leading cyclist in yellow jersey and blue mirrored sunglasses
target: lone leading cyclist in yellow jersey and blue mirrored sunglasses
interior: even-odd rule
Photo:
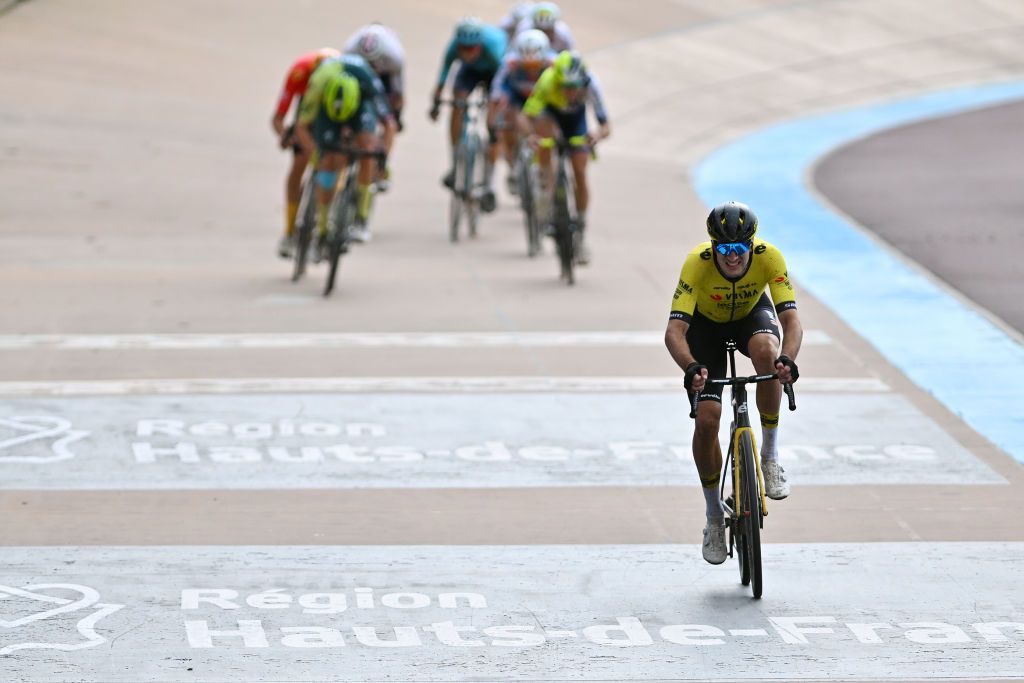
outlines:
[[[728,339],[751,358],[759,375],[778,373],[778,382],[763,382],[757,389],[761,461],[768,498],[781,500],[790,495],[790,484],[778,462],[778,415],[781,384],[796,382],[800,376],[794,358],[800,352],[804,331],[785,259],[776,247],[755,237],[757,229],[758,218],[744,204],[729,202],[712,210],[708,216],[711,242],[697,245],[686,256],[665,333],[669,352],[685,371],[687,395],[692,401],[693,392],[700,394],[693,429],[693,461],[700,475],[708,516],[702,553],[712,564],[721,564],[727,555],[725,515],[719,495],[722,388],[706,387],[705,382],[709,377],[726,377]],[[766,288],[771,292],[770,299]]]

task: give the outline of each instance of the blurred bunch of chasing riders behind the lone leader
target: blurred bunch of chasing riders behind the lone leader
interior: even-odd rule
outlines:
[[[556,134],[572,140],[569,159],[581,231],[578,261],[587,263],[590,250],[583,240],[590,196],[587,162],[592,146],[610,134],[610,127],[600,85],[575,51],[558,5],[520,2],[498,26],[475,17],[461,19],[444,50],[433,89],[429,110],[433,121],[440,115],[441,96],[457,62],[452,84],[456,105],[449,125],[453,162],[442,184],[449,188],[455,184],[454,156],[463,126],[459,109],[481,89],[488,100],[488,163],[484,165],[480,208],[489,212],[497,206],[493,176],[502,148],[509,166],[509,189],[515,194],[515,166],[521,163],[516,151],[520,139],[527,139],[537,148],[540,171],[536,211],[541,223],[547,225],[554,191],[550,141]],[[283,258],[291,258],[296,248],[302,178],[310,164],[316,186],[316,240],[311,256],[313,262],[323,258],[328,207],[339,185],[340,171],[347,165],[346,152],[351,150],[384,152],[383,160],[367,156],[358,163],[358,210],[348,239],[370,241],[373,197],[388,187],[387,155],[402,129],[403,67],[404,52],[397,34],[377,23],[357,30],[342,50],[313,50],[292,65],[272,119],[282,148],[293,151],[286,181],[285,233],[278,246]],[[295,120],[286,125],[293,102],[297,102]],[[598,122],[594,132],[587,125],[588,104]]]

